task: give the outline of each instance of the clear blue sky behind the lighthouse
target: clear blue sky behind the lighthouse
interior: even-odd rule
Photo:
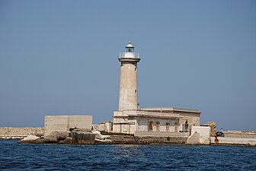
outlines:
[[[256,1],[0,1],[0,126],[112,120],[131,40],[141,107],[256,130]]]

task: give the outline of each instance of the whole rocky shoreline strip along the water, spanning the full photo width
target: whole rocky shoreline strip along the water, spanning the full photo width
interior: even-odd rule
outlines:
[[[52,132],[50,135],[28,135],[28,136],[2,136],[0,140],[19,139],[18,143],[26,144],[189,144],[187,137],[171,136],[134,136],[126,134],[114,134],[104,131],[91,131],[88,129],[75,128],[69,132]],[[219,138],[218,142],[211,138],[208,145],[219,146],[245,146],[256,147],[254,138]],[[225,141],[224,141],[225,140]],[[227,141],[228,140],[228,141]],[[200,145],[200,144],[199,144]]]

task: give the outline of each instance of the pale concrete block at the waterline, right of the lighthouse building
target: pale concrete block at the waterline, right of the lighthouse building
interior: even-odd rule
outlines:
[[[195,133],[199,133],[199,135],[200,135],[199,144],[210,144],[211,143],[210,126],[192,126],[190,136],[193,136]]]

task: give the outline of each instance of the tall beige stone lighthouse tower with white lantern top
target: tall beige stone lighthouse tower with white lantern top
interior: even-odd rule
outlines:
[[[140,59],[131,42],[126,45],[126,51],[120,53],[118,60],[121,62],[119,111],[138,109],[137,62]]]

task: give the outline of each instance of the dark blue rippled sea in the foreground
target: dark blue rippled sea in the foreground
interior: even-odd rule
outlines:
[[[256,147],[0,141],[0,170],[256,170]]]

